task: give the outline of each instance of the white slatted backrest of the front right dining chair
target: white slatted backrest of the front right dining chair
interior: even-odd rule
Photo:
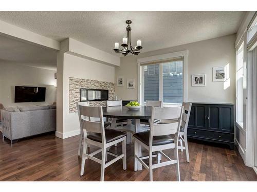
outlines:
[[[179,132],[183,106],[173,108],[152,108],[150,141],[153,136],[175,135]],[[155,119],[160,122],[154,123]]]

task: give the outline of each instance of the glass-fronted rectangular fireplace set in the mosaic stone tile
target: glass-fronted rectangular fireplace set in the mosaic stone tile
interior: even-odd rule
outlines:
[[[108,90],[80,89],[80,101],[106,101],[108,100],[108,96]]]

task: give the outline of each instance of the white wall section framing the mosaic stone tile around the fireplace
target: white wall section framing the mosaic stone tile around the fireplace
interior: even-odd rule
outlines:
[[[114,82],[114,67],[64,53],[62,138],[80,134],[78,113],[69,113],[69,77]]]

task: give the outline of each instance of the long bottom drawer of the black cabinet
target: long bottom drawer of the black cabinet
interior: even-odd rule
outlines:
[[[188,128],[188,136],[234,142],[234,134]]]

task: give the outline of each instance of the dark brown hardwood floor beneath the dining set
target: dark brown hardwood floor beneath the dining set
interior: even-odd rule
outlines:
[[[2,133],[0,132],[2,138]],[[59,139],[53,134],[24,139],[13,146],[0,140],[0,181],[99,181],[100,164],[86,160],[80,177],[78,136]],[[91,151],[96,148],[91,148]],[[112,147],[119,153],[121,145]],[[254,170],[244,165],[237,151],[189,142],[190,163],[179,152],[181,181],[257,181]],[[169,151],[164,151],[169,154]],[[173,153],[170,153],[173,157]],[[154,169],[154,181],[176,181],[175,165]],[[105,169],[105,181],[148,181],[149,174],[133,170],[133,144],[127,145],[127,170],[119,160]]]

